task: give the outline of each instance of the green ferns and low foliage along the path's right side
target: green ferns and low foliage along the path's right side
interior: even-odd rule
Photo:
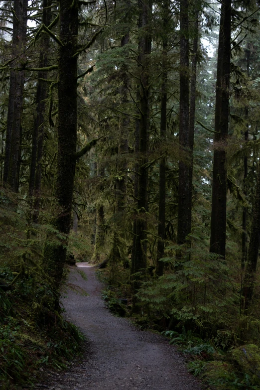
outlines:
[[[107,307],[117,316],[130,317],[140,329],[160,332],[169,338],[170,344],[177,346],[185,357],[188,371],[200,378],[207,389],[260,389],[260,321],[243,313],[234,321],[234,303],[228,310],[230,295],[226,294],[222,302],[212,301],[211,307],[204,299],[204,306],[201,304],[197,313],[191,303],[181,308],[179,299],[183,301],[184,292],[189,299],[191,296],[187,293],[187,278],[181,280],[181,276],[169,274],[166,269],[161,278],[150,275],[143,280],[137,293],[139,309],[132,313],[129,272],[119,265],[117,277],[113,278],[108,265],[98,271],[98,277],[106,283],[103,299]],[[122,304],[122,298],[128,299],[127,305]],[[229,323],[224,322],[226,312],[232,315]]]

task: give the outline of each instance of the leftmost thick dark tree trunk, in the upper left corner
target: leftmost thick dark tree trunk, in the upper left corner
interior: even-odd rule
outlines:
[[[14,1],[11,68],[25,62],[28,0]],[[11,69],[5,137],[3,182],[17,191],[24,71]]]

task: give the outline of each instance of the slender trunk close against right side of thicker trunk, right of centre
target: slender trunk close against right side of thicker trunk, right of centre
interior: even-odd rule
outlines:
[[[191,231],[192,222],[192,178],[193,178],[193,148],[194,148],[194,129],[195,129],[195,109],[196,109],[196,78],[197,78],[197,61],[198,61],[198,39],[199,39],[199,9],[195,10],[194,21],[194,39],[192,47],[191,63],[191,81],[190,81],[190,116],[189,116],[189,148],[190,148],[190,165],[189,165],[189,230]]]

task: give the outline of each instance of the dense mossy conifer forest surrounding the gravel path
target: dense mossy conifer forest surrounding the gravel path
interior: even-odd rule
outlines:
[[[0,1],[3,390],[81,353],[75,261],[208,389],[260,389],[259,35],[258,0]]]

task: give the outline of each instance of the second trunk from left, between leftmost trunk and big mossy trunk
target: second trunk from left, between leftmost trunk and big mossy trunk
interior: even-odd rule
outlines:
[[[52,0],[43,0],[42,23],[48,26],[51,22]],[[48,51],[50,45],[49,34],[42,34],[40,40],[39,68],[48,66]],[[32,150],[29,176],[28,197],[30,207],[33,208],[31,216],[34,222],[38,220],[39,192],[41,185],[41,159],[44,137],[44,113],[47,98],[48,85],[42,79],[46,79],[47,72],[39,71],[36,89],[35,108],[36,114],[33,121]],[[33,199],[34,197],[34,199]]]

